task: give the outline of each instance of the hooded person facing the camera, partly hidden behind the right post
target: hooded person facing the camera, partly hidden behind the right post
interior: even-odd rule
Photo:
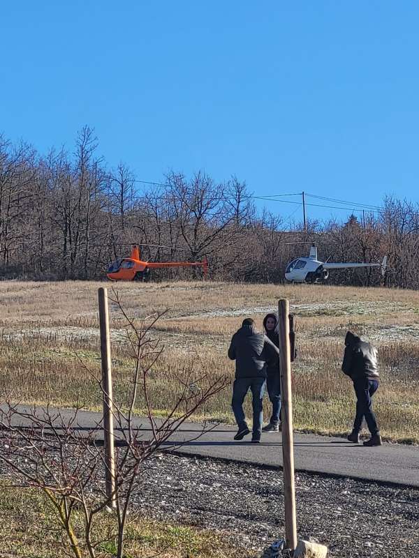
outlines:
[[[265,335],[276,347],[279,347],[278,315],[270,312],[263,318]],[[279,356],[274,356],[267,363],[266,369],[267,395],[272,403],[272,416],[262,432],[279,432],[281,430],[281,376],[279,375]]]

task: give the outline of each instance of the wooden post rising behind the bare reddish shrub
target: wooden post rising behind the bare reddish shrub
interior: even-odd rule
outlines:
[[[103,442],[105,448],[105,486],[106,494],[110,498],[110,507],[116,508],[115,495],[115,452],[113,432],[113,403],[112,403],[112,366],[110,360],[109,310],[108,289],[98,289],[99,323],[101,327],[101,362],[103,389]]]

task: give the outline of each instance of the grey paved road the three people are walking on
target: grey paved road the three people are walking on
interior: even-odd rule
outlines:
[[[71,411],[62,413],[63,416],[70,416]],[[100,420],[100,414],[80,412],[76,428],[82,434]],[[135,423],[141,426],[142,437],[147,439],[151,435],[147,420],[137,418]],[[202,428],[198,423],[186,423],[170,437],[165,444],[166,448],[188,455],[204,455],[271,467],[282,466],[280,433],[263,434],[261,444],[251,444],[247,442],[250,436],[242,442],[235,442],[233,435],[236,429],[226,425],[219,425],[196,439]],[[121,437],[121,432],[116,432],[116,435]],[[365,448],[346,442],[343,438],[295,434],[294,455],[296,471],[349,476],[419,488],[418,446],[383,444],[381,447]]]

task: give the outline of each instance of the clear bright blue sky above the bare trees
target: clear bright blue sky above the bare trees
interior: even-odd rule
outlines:
[[[416,1],[6,0],[0,26],[10,140],[71,151],[88,124],[145,181],[205,169],[256,195],[419,201]]]

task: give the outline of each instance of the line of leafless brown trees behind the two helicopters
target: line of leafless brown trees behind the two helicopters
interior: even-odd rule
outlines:
[[[307,242],[307,246],[303,243]],[[144,259],[199,261],[210,277],[281,282],[286,264],[315,242],[321,259],[378,262],[379,269],[336,270],[341,285],[419,287],[419,208],[383,199],[360,222],[309,221],[289,225],[258,210],[244,181],[222,183],[205,172],[170,172],[163,184],[139,186],[131,169],[111,169],[98,156],[94,130],[85,126],[73,153],[40,154],[0,136],[0,278],[102,279],[108,264],[142,244]],[[161,270],[161,278],[191,278],[199,269]]]

